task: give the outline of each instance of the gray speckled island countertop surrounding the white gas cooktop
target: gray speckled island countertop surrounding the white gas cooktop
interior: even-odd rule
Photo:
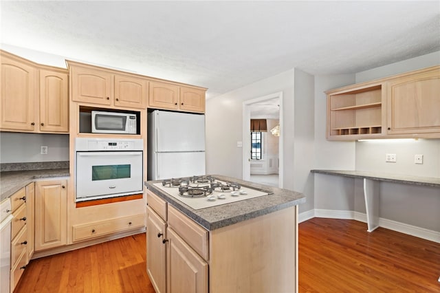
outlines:
[[[153,185],[162,182],[162,180],[147,181],[145,182],[145,186],[157,196],[168,202],[168,204],[174,206],[177,210],[180,210],[181,213],[184,213],[207,230],[215,230],[236,224],[240,221],[273,213],[276,210],[282,210],[289,206],[303,204],[305,202],[305,196],[296,191],[256,184],[254,182],[238,180],[236,178],[221,175],[212,176],[222,181],[237,182],[243,186],[271,191],[273,194],[254,197],[240,202],[232,202],[230,204],[222,204],[220,206],[212,206],[210,208],[202,208],[201,210],[194,210]]]

